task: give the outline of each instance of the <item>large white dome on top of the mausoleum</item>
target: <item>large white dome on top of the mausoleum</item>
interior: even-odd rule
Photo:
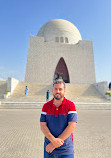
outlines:
[[[82,40],[79,30],[69,21],[55,19],[41,27],[37,36],[44,37],[46,42],[76,44]]]

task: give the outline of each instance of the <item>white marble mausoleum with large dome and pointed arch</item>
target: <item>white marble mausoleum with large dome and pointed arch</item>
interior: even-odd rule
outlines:
[[[52,83],[56,73],[66,83],[96,82],[92,41],[82,40],[79,30],[63,19],[47,22],[30,37],[25,82]]]

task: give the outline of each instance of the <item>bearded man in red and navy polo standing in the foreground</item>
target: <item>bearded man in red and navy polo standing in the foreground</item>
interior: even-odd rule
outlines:
[[[54,82],[52,93],[54,98],[44,104],[40,118],[40,127],[45,135],[44,158],[74,158],[75,105],[64,97],[63,80]]]

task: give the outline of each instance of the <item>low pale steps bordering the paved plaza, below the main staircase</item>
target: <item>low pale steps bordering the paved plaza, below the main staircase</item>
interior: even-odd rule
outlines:
[[[2,102],[0,109],[41,109],[45,102]],[[78,110],[111,110],[111,103],[75,102]]]

